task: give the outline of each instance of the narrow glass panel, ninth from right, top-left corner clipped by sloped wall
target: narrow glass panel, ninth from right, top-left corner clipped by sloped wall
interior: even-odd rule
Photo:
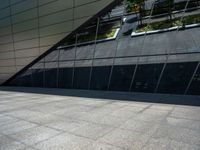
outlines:
[[[37,63],[32,67],[32,78],[33,87],[44,86],[44,63]]]

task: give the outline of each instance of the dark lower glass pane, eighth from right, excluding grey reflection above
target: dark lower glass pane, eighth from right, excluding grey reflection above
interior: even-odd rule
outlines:
[[[57,68],[45,70],[45,87],[56,88],[57,87]]]

